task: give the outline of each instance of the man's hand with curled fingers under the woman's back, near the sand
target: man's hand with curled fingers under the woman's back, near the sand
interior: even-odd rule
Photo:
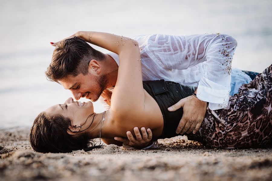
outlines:
[[[132,146],[134,148],[144,148],[151,144],[152,139],[152,132],[151,129],[145,129],[144,127],[141,128],[142,135],[138,129],[138,127],[134,127],[134,133],[135,137],[131,134],[130,131],[127,132],[128,138],[124,137],[114,137],[115,140],[121,141],[125,144],[128,144],[129,146]]]

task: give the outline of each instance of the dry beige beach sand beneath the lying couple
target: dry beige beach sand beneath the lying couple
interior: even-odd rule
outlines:
[[[116,145],[89,152],[41,154],[29,129],[0,130],[0,180],[272,180],[272,148],[217,150],[185,137],[156,150]]]

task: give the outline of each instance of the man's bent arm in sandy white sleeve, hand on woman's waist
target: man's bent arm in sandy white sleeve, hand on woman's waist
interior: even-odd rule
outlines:
[[[175,111],[183,107],[177,133],[198,131],[206,113],[206,102],[209,102],[211,110],[227,106],[231,62],[236,46],[234,38],[223,34],[150,37],[148,50],[165,69],[183,70],[206,62],[206,71],[199,81],[196,96],[186,97],[168,108]]]

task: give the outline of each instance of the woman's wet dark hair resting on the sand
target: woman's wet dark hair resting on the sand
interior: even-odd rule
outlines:
[[[59,114],[40,113],[34,120],[30,131],[32,148],[42,153],[68,153],[73,150],[89,151],[101,147],[90,140],[87,134],[68,134],[69,126],[71,126],[69,118]]]

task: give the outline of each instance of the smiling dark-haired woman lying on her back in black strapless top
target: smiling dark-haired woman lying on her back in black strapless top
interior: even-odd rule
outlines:
[[[153,140],[176,136],[183,110],[169,112],[167,108],[197,93],[196,87],[164,80],[143,82],[137,42],[98,32],[90,38],[93,44],[117,53],[120,58],[111,108],[95,114],[91,102],[79,103],[72,98],[48,108],[37,116],[31,128],[30,141],[34,150],[70,152],[87,148],[90,139],[100,137],[107,144],[120,144],[114,137],[125,136],[127,130],[132,131],[136,126],[151,129]],[[115,42],[122,44],[119,46]],[[270,144],[271,75],[270,66],[230,97],[224,109],[212,111],[207,106],[199,131],[195,135],[188,134],[188,138],[218,148]]]

